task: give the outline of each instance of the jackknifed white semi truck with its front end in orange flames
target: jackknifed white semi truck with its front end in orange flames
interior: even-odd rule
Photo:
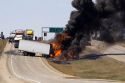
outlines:
[[[56,41],[51,42],[36,42],[30,40],[20,40],[19,50],[23,51],[24,55],[29,55],[27,53],[38,53],[44,55],[45,57],[59,57],[62,53],[62,44],[60,41],[71,38],[67,34],[58,34]],[[48,56],[46,56],[48,55]]]

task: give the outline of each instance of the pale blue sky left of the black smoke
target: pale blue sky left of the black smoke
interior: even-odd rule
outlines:
[[[6,36],[15,29],[64,27],[73,10],[72,0],[0,0],[0,32]]]

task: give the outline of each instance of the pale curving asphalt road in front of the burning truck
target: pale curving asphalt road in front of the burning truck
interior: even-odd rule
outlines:
[[[7,44],[0,59],[0,83],[121,83],[74,79],[52,68],[44,58],[22,56]]]

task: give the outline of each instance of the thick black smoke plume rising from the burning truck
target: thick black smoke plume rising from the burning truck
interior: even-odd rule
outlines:
[[[123,37],[121,32],[125,31],[125,0],[96,0],[96,3],[92,0],[73,0],[72,6],[76,10],[71,12],[64,31],[72,39],[62,42],[62,54],[65,56],[74,54],[73,57],[76,57],[93,35],[108,43]]]

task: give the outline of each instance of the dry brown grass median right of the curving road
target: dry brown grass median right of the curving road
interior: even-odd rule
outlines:
[[[78,60],[71,64],[49,62],[59,71],[87,79],[109,79],[125,81],[125,64],[109,57],[96,60]]]

